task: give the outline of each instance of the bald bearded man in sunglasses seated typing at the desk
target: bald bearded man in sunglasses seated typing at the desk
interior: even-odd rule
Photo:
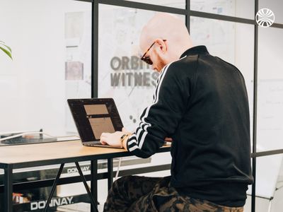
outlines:
[[[121,177],[105,211],[243,211],[250,173],[250,120],[238,69],[193,47],[183,22],[158,13],[143,28],[141,58],[160,72],[154,102],[133,134],[101,143],[147,158],[172,138],[170,177]]]

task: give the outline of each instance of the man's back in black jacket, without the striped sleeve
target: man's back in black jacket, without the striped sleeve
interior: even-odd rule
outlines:
[[[168,69],[182,78],[185,110],[171,135],[171,185],[196,199],[243,206],[250,173],[250,120],[242,74],[192,47]]]

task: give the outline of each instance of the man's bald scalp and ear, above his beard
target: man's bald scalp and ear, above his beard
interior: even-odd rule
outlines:
[[[179,59],[185,50],[192,47],[192,41],[184,22],[168,13],[156,13],[141,30],[139,40],[141,51],[146,52],[153,42],[156,42],[156,45],[152,52],[155,51],[158,57],[165,60],[165,64]],[[158,48],[161,48],[160,51]],[[149,54],[153,54],[152,52]]]

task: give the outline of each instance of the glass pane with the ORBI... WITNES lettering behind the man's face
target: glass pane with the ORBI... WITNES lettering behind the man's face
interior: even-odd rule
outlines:
[[[99,5],[98,96],[114,98],[124,126],[136,129],[153,100],[158,73],[139,58],[139,36],[154,16],[120,6]],[[185,16],[180,16],[185,22]]]

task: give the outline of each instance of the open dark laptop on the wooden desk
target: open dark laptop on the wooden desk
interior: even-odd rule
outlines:
[[[123,124],[112,98],[67,100],[83,146],[120,148],[100,143],[103,132],[122,131]]]

